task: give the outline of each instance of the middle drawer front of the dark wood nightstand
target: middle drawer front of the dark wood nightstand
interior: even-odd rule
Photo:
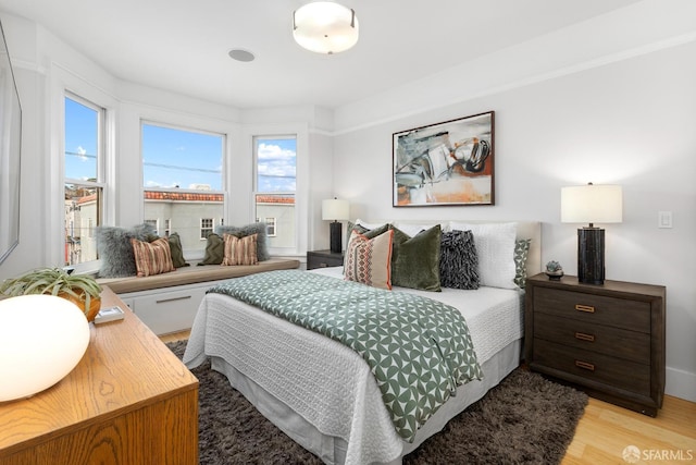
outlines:
[[[650,334],[644,332],[535,314],[534,336],[638,364],[650,364]]]

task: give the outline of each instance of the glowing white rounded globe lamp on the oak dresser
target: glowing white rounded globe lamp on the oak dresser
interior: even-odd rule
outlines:
[[[89,344],[89,323],[52,295],[0,301],[0,402],[27,397],[63,379]]]

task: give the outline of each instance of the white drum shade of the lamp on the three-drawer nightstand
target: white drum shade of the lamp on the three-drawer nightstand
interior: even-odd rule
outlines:
[[[620,223],[622,220],[621,186],[587,184],[561,188],[561,222]]]

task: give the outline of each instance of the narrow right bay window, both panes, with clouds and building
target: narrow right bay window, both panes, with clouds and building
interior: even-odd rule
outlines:
[[[256,136],[256,218],[266,222],[272,249],[297,247],[297,137]],[[272,224],[270,221],[272,220]]]

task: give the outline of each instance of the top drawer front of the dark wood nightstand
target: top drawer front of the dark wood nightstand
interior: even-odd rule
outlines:
[[[631,331],[650,332],[648,302],[535,287],[534,311]]]

